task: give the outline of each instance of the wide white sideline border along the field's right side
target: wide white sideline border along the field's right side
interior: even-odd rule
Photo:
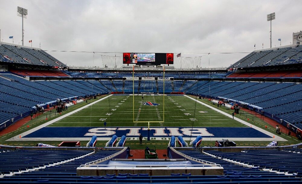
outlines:
[[[212,107],[212,106],[210,106],[210,105],[208,105],[208,104],[205,104],[205,103],[203,103],[203,102],[201,102],[201,101],[199,101],[199,100],[197,100],[197,99],[194,99],[194,98],[192,98],[192,97],[189,97],[189,96],[187,96],[187,95],[184,95],[184,96],[190,98],[191,100],[194,100],[194,101],[198,102],[199,104],[202,104],[202,105],[204,105],[204,106],[206,106],[206,107],[209,107],[209,108],[211,108],[211,109],[213,109],[213,110],[216,110],[217,112],[219,112],[219,113],[221,113],[221,114],[223,114],[223,115],[225,115],[225,116],[227,116],[227,117],[233,118],[232,115],[230,115],[230,114],[228,114],[228,113],[226,113],[226,112],[223,112],[223,111],[221,111],[221,110],[219,110],[219,109],[216,109],[216,108],[214,108],[214,107]],[[252,125],[251,123],[248,123],[248,122],[246,122],[246,121],[243,121],[243,120],[241,120],[241,119],[239,119],[239,118],[237,118],[237,117],[234,117],[234,120],[236,120],[236,121],[238,121],[238,122],[240,122],[240,123],[242,123],[242,124],[245,124],[246,126],[252,127],[253,129],[258,130],[259,132],[265,133],[265,134],[268,135],[268,136],[271,136],[271,137],[274,137],[274,136],[275,136],[275,138],[259,138],[260,140],[270,139],[270,140],[277,140],[277,141],[287,141],[287,140],[283,139],[283,138],[280,137],[280,136],[277,136],[277,135],[275,135],[275,134],[273,134],[273,133],[270,133],[270,132],[268,132],[268,131],[266,131],[266,130],[264,130],[264,129],[262,129],[262,128],[259,128],[259,127],[255,126],[255,125]]]

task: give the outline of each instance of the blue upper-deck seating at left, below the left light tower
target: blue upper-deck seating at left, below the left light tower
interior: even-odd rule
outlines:
[[[65,64],[43,50],[33,50],[21,46],[1,44],[0,57],[4,62],[66,67]]]

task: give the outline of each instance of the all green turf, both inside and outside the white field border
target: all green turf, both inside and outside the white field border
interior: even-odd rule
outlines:
[[[103,96],[104,97],[104,96]],[[157,95],[144,95],[134,96],[134,120],[133,120],[133,96],[111,96],[100,102],[87,107],[77,113],[70,115],[69,117],[63,118],[49,126],[54,127],[103,127],[103,122],[100,119],[106,119],[107,127],[127,127],[127,126],[147,126],[147,123],[137,123],[137,121],[163,121],[163,96]],[[192,96],[194,97],[194,96]],[[246,125],[239,123],[225,115],[218,113],[202,104],[195,103],[194,100],[189,99],[185,96],[164,96],[165,98],[165,118],[163,123],[150,123],[152,127],[245,127]],[[196,98],[196,97],[194,97]],[[126,99],[126,100],[124,100]],[[96,99],[98,100],[98,99]],[[207,99],[198,99],[212,107],[217,108],[217,105],[213,105]],[[92,102],[95,100],[89,100]],[[124,102],[121,102],[124,101]],[[150,101],[153,103],[160,104],[159,106],[146,106],[142,105],[142,102]],[[76,104],[69,107],[67,112],[75,110],[79,107],[85,106],[84,103]],[[119,106],[119,107],[116,107]],[[177,107],[181,106],[181,107]],[[116,110],[112,110],[116,109]],[[184,109],[184,110],[181,110]],[[225,107],[219,107],[226,113],[231,114],[233,110]],[[206,113],[200,113],[199,111],[206,111]],[[65,111],[63,114],[66,113]],[[106,115],[106,113],[112,113]],[[185,115],[189,113],[189,115]],[[22,132],[30,130],[33,127],[37,127],[43,123],[46,123],[59,115],[52,116],[48,120],[45,120],[45,114],[38,118],[29,121],[24,124],[18,130],[8,133],[0,137],[0,144],[14,145],[14,146],[34,146],[37,144],[36,141],[5,141],[8,138],[16,136]],[[252,115],[251,115],[252,116]],[[236,115],[239,119],[247,120],[246,117]],[[197,121],[192,121],[190,118],[195,118]],[[133,122],[134,121],[134,122]],[[253,126],[261,127],[271,133],[275,133],[275,127],[270,126],[268,123],[254,117],[253,121],[249,121]],[[30,125],[30,128],[26,128]],[[265,128],[267,126],[268,128]],[[279,135],[288,141],[279,141],[279,145],[291,145],[297,144],[301,141],[297,140],[293,136],[288,136],[284,133]],[[76,141],[76,140],[75,140]],[[46,144],[58,145],[61,141],[43,141]],[[97,146],[103,147],[107,141],[98,141]],[[188,141],[187,141],[188,142]],[[237,146],[266,146],[270,141],[235,141]],[[126,141],[125,146],[130,146],[131,149],[143,149],[146,145],[154,144],[157,149],[166,149],[169,141],[143,141],[143,145],[139,145],[139,141]],[[201,146],[214,146],[215,140],[202,141]],[[86,141],[81,141],[81,146],[85,146]]]

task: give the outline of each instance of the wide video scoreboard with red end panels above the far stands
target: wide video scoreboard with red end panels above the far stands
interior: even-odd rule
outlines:
[[[123,64],[160,65],[173,63],[173,53],[123,53]]]

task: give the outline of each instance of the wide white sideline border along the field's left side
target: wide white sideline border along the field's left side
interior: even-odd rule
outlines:
[[[99,100],[96,100],[96,101],[92,102],[91,104],[88,104],[88,105],[85,105],[85,106],[83,106],[83,107],[80,107],[79,109],[76,109],[76,110],[74,110],[74,111],[72,111],[72,112],[70,112],[70,113],[66,113],[66,114],[64,114],[64,115],[62,115],[62,116],[60,116],[60,117],[57,117],[57,118],[55,118],[55,119],[53,119],[53,120],[50,120],[50,121],[48,121],[48,122],[46,122],[46,123],[44,123],[44,124],[42,124],[42,125],[40,125],[40,126],[38,126],[38,127],[34,127],[33,129],[28,130],[28,131],[26,131],[26,132],[23,132],[23,133],[21,133],[21,134],[19,134],[19,135],[17,135],[17,136],[11,137],[10,139],[5,140],[5,141],[19,141],[19,140],[20,140],[20,136],[23,137],[23,136],[26,136],[26,135],[28,135],[28,134],[30,134],[30,133],[33,133],[33,132],[35,132],[35,131],[37,131],[37,130],[43,128],[43,127],[46,127],[46,126],[48,126],[48,125],[50,125],[50,124],[52,124],[52,123],[55,123],[55,122],[58,121],[58,120],[61,120],[61,119],[65,118],[65,117],[67,117],[67,116],[70,116],[70,115],[72,115],[72,114],[74,114],[74,113],[76,113],[76,112],[78,112],[78,111],[80,111],[80,110],[82,110],[82,109],[85,109],[86,107],[89,107],[89,106],[91,106],[91,105],[93,105],[93,104],[95,104],[95,103],[98,103],[99,101],[104,100],[104,99],[106,99],[106,98],[108,98],[108,97],[111,97],[111,96],[112,96],[112,94],[111,94],[111,95],[108,95],[108,96],[106,96],[106,97],[104,97],[104,98],[101,98],[101,99],[99,99]]]

